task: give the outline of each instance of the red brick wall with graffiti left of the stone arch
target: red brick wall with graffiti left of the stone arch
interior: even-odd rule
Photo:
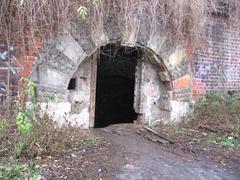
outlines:
[[[36,40],[36,39],[35,39]],[[8,109],[13,110],[18,100],[19,80],[28,77],[32,65],[42,47],[37,41],[29,37],[19,37],[7,42],[0,33],[0,113]],[[35,43],[37,42],[37,43]],[[10,107],[10,108],[8,108]]]

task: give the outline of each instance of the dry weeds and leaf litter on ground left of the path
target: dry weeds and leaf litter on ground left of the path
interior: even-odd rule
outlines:
[[[103,138],[70,125],[57,128],[47,115],[33,122],[30,135],[14,120],[0,119],[0,179],[101,176],[108,171],[105,152]]]

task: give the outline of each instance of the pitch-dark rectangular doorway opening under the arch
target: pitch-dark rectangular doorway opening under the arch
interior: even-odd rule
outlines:
[[[107,45],[100,49],[97,68],[95,128],[133,123],[135,71],[141,52]]]

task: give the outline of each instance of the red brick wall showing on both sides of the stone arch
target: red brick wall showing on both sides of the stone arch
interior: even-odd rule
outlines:
[[[3,104],[8,89],[11,99],[17,99],[18,80],[29,76],[43,41],[19,37],[8,48],[1,37],[0,104]],[[240,90],[240,23],[230,23],[221,17],[209,19],[198,48],[189,44],[186,50],[192,77],[183,76],[173,82],[176,95],[190,93],[199,97],[208,91]]]

